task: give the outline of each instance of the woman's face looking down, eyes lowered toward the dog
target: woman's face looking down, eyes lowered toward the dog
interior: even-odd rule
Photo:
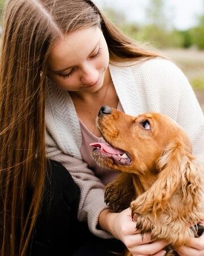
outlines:
[[[100,28],[83,28],[54,46],[48,57],[48,77],[64,90],[96,92],[108,77],[108,64],[108,47]]]

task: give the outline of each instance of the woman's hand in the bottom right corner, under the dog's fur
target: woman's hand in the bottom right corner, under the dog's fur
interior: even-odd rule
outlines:
[[[180,256],[204,256],[204,233],[198,238],[191,238],[176,251]]]

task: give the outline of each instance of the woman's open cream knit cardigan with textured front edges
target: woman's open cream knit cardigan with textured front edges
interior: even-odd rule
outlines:
[[[203,113],[181,70],[161,58],[134,63],[131,67],[118,65],[110,64],[109,70],[125,113],[138,115],[153,111],[169,115],[188,133],[193,153],[204,159]],[[104,185],[82,160],[79,151],[82,134],[73,102],[69,93],[51,82],[48,82],[45,117],[46,154],[61,162],[80,187],[78,219],[87,221],[96,236],[112,238],[96,227],[100,212],[107,208]]]

